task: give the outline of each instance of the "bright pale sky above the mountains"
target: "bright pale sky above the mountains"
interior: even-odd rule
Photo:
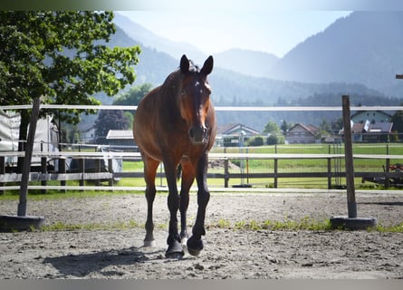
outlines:
[[[178,0],[177,0],[178,1]],[[195,45],[206,54],[231,48],[283,57],[350,11],[310,9],[146,9],[117,11],[159,36]]]

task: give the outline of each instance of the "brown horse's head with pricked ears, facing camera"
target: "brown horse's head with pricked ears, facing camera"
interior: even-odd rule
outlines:
[[[179,91],[179,110],[182,119],[187,121],[188,134],[192,143],[205,144],[208,137],[207,113],[210,107],[211,88],[207,75],[213,70],[213,56],[209,56],[201,70],[184,54],[180,60],[182,78]]]

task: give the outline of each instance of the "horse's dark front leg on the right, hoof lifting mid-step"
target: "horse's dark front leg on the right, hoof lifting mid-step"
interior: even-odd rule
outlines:
[[[197,218],[192,229],[192,237],[187,240],[187,251],[192,256],[198,256],[204,247],[201,237],[206,235],[206,207],[210,200],[210,192],[207,189],[207,166],[208,160],[205,152],[197,163]]]

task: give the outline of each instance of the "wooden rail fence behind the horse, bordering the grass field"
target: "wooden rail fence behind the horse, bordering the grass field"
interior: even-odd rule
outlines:
[[[21,180],[21,174],[6,172],[5,158],[7,157],[24,157],[24,152],[0,152],[0,194],[4,192],[5,189],[19,189],[15,182]],[[112,171],[112,160],[140,160],[139,152],[76,152],[76,151],[62,151],[62,152],[34,152],[33,157],[41,159],[41,166],[38,172],[31,172],[29,180],[40,181],[41,186],[29,186],[29,189],[41,189],[46,192],[46,189],[95,189],[95,190],[130,190],[139,189],[135,187],[120,187],[114,185],[114,180],[121,178],[143,178],[142,172],[113,172]],[[64,162],[66,159],[76,159],[79,160],[80,170],[79,172],[66,172]],[[340,162],[344,159],[344,154],[264,154],[264,153],[210,153],[210,160],[223,160],[224,169],[222,173],[208,173],[208,179],[223,179],[224,188],[229,187],[230,179],[270,179],[273,180],[273,188],[277,189],[279,179],[301,179],[301,178],[324,178],[327,179],[328,189],[332,189],[334,184],[332,184],[332,179],[344,178],[345,169],[335,170],[333,163]],[[326,160],[327,170],[322,172],[279,172],[279,160]],[[389,179],[403,179],[403,172],[390,172],[389,165],[390,160],[402,160],[403,155],[369,155],[369,154],[354,154],[354,159],[376,159],[384,160],[385,171],[377,172],[354,172],[356,178],[377,178],[385,179],[385,188],[389,188]],[[47,167],[48,160],[58,160],[59,170],[49,171]],[[95,170],[88,172],[85,169],[85,160],[95,161]],[[108,160],[108,166],[105,167],[108,171],[102,172],[101,160]],[[265,172],[254,172],[254,173],[230,173],[229,161],[230,160],[273,160],[273,169]],[[104,168],[104,169],[105,169]],[[163,172],[158,172],[157,177],[164,177]],[[60,181],[59,186],[48,185],[48,181],[57,180]],[[79,180],[79,186],[67,186],[66,181],[68,180]],[[85,180],[93,180],[94,186],[86,186]],[[102,181],[108,181],[108,186],[102,185]],[[7,183],[13,183],[13,185],[7,186]],[[54,184],[54,182],[53,182]]]

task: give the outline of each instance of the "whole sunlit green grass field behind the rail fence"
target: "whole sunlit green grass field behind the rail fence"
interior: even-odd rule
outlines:
[[[238,152],[249,152],[249,153],[294,153],[294,154],[328,154],[328,153],[344,153],[344,148],[342,146],[335,147],[332,144],[309,144],[309,145],[278,145],[278,146],[262,146],[262,147],[249,147],[247,149],[240,150],[239,148],[214,148],[212,152],[220,153],[238,153]],[[391,154],[391,155],[403,155],[403,144],[399,143],[378,143],[378,144],[353,144],[354,154]],[[238,166],[236,169],[229,169],[230,173],[241,173],[239,165],[241,160],[230,160],[232,163]],[[403,163],[403,160],[390,160],[390,164]],[[356,159],[354,160],[354,171],[355,172],[381,172],[383,171],[382,166],[385,166],[386,160],[374,160],[374,159]],[[332,160],[331,171],[345,171],[344,160],[340,159],[337,162]],[[123,162],[123,171],[125,172],[142,172],[143,164],[142,161],[125,160]],[[273,188],[274,179],[250,179],[247,173],[273,173],[274,161],[273,160],[245,160],[244,169],[242,172],[245,174],[244,179],[229,179],[228,186],[232,187],[234,185],[240,184],[250,184],[254,188]],[[282,173],[298,173],[298,172],[327,172],[328,164],[326,159],[321,160],[278,160],[278,172]],[[158,169],[159,172],[163,172],[162,166]],[[224,167],[208,169],[209,173],[224,173]],[[224,188],[224,179],[208,179],[209,187],[219,187]],[[345,185],[345,179],[332,179],[332,185]],[[39,182],[32,182],[32,185],[39,185]],[[49,185],[59,185],[58,181],[49,181]],[[78,185],[78,181],[68,181],[67,185]],[[93,185],[93,182],[87,181],[87,185]],[[108,185],[108,183],[102,183]],[[9,185],[9,184],[7,184]],[[165,178],[156,179],[157,186],[167,186],[167,181]],[[142,178],[124,178],[117,182],[115,187],[144,187],[145,181]],[[328,179],[327,178],[279,178],[277,180],[277,188],[299,188],[299,189],[327,189]],[[383,189],[383,186],[377,185],[371,182],[361,183],[360,178],[355,179],[356,189]],[[69,190],[73,191],[73,190]],[[15,195],[18,190],[7,190],[7,192]],[[30,190],[30,193],[38,193],[39,190]],[[57,190],[48,190],[48,192],[58,192]],[[78,191],[83,194],[82,191]],[[121,190],[115,190],[114,192],[125,192]],[[127,191],[126,191],[127,192]],[[130,191],[131,192],[131,191]],[[141,192],[142,193],[142,192]]]

